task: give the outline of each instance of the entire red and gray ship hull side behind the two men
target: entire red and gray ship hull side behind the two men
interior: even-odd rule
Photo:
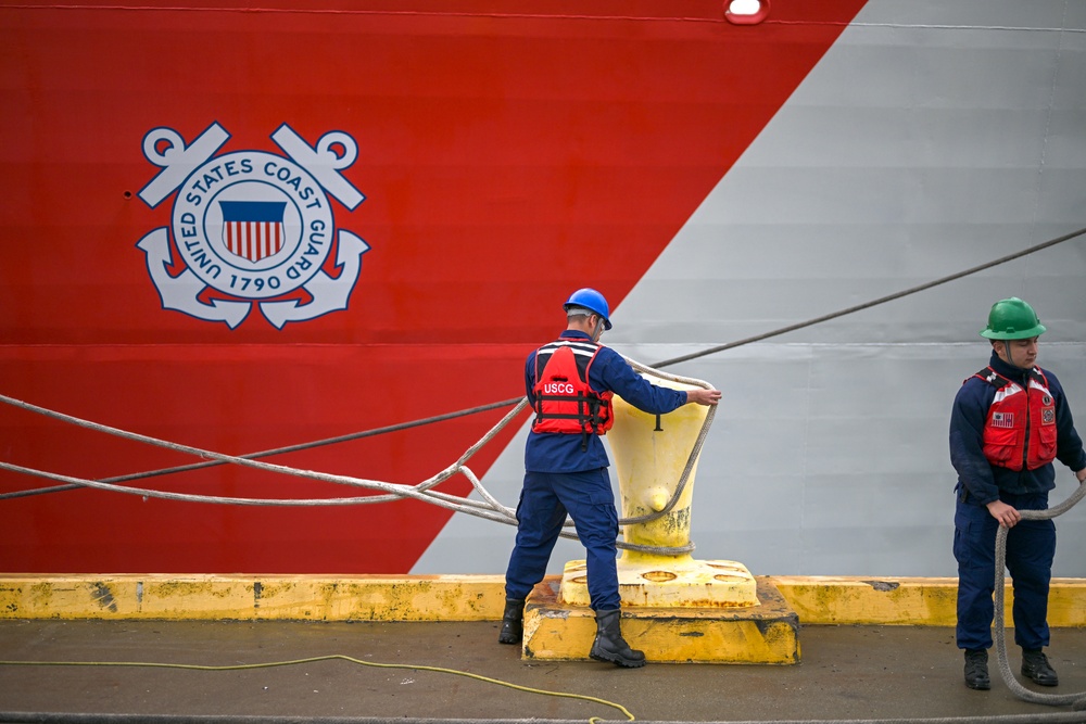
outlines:
[[[1086,405],[1081,239],[699,353],[1086,226],[1086,15],[682,10],[0,9],[0,393],[228,455],[325,441],[519,397],[525,356],[591,285],[614,310],[607,344],[690,356],[667,371],[723,392],[695,555],[952,575],[946,429],[987,360],[976,332],[995,300],[1028,300],[1049,329],[1039,364]],[[231,245],[231,201],[288,246]],[[0,407],[0,459],[24,468],[93,481],[201,459]],[[414,485],[510,408],[265,459]],[[510,507],[525,425],[470,462]],[[56,484],[0,473],[2,493]],[[502,573],[513,542],[418,500],[223,501],[364,494],[236,465],[125,484],[210,499],[0,500],[0,570]],[[462,475],[439,490],[479,497]],[[1082,513],[1066,518],[1057,572],[1082,576]],[[552,572],[581,557],[560,543]]]

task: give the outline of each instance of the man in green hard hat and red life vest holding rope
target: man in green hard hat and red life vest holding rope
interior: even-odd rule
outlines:
[[[973,689],[990,688],[987,661],[1000,525],[1010,529],[1007,569],[1014,582],[1014,643],[1022,647],[1022,674],[1041,686],[1059,684],[1043,650],[1049,643],[1056,525],[1051,519],[1023,520],[1019,511],[1048,508],[1055,460],[1075,471],[1079,483],[1086,480],[1086,450],[1059,380],[1036,365],[1037,340],[1045,331],[1022,300],[996,302],[981,331],[992,341],[988,366],[964,381],[950,415],[950,461],[958,471],[957,640],[965,655],[965,685]]]

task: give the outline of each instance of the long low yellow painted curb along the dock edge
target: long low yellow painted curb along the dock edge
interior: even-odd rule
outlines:
[[[956,620],[956,579],[756,577],[803,625]],[[496,621],[504,600],[501,575],[0,574],[0,620]],[[1086,579],[1052,580],[1048,620],[1086,626]]]

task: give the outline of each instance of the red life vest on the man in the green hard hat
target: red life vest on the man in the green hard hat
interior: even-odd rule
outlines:
[[[1040,368],[1025,389],[990,367],[974,374],[996,389],[984,423],[984,457],[1011,470],[1036,470],[1056,459],[1056,401]]]

